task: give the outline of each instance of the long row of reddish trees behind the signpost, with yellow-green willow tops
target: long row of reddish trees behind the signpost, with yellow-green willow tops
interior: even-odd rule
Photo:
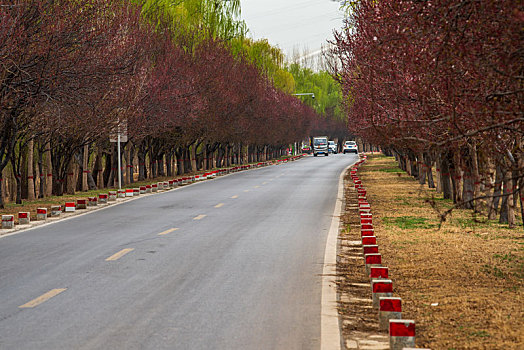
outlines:
[[[135,166],[139,180],[180,175],[265,160],[306,138],[319,115],[289,94],[279,51],[245,38],[239,9],[1,0],[0,174],[14,175],[16,201],[113,186],[109,136],[124,121],[125,182]]]

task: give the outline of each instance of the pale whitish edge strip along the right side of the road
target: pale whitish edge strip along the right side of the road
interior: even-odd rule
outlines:
[[[322,269],[322,305],[320,310],[320,349],[340,350],[340,324],[338,316],[337,301],[337,242],[340,229],[340,215],[342,213],[342,202],[344,199],[344,174],[353,166],[348,165],[340,174],[338,179],[337,202],[331,219],[331,226],[326,240],[324,252],[324,264]]]

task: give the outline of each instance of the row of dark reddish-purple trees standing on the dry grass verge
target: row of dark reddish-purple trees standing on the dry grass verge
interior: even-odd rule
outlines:
[[[332,69],[351,131],[457,205],[515,226],[524,195],[522,2],[346,4]]]

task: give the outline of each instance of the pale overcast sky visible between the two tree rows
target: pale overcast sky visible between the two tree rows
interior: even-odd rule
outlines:
[[[342,27],[339,1],[241,0],[242,19],[254,39],[266,38],[291,58],[293,48],[302,53],[320,50],[333,29]]]

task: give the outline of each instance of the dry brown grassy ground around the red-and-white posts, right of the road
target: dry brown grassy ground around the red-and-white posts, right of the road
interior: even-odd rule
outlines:
[[[524,349],[522,226],[508,229],[462,209],[440,225],[428,201],[443,210],[451,201],[419,185],[398,169],[394,158],[368,157],[358,175],[371,204],[383,265],[389,267],[394,295],[402,298],[403,318],[416,321],[417,346]],[[367,301],[369,280],[354,243],[360,228],[351,186],[342,221],[338,271],[343,334],[347,339],[360,332],[379,334],[377,314]]]

